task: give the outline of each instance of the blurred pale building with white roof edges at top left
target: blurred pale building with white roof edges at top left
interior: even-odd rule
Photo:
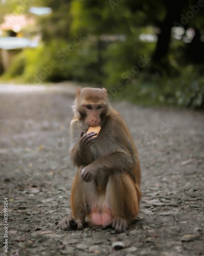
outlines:
[[[38,45],[37,16],[50,12],[50,8],[31,7],[28,13],[12,13],[4,17],[4,22],[0,24],[0,74],[8,69],[18,52]]]

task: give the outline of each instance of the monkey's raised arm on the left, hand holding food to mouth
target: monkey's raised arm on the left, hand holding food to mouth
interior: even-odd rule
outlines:
[[[74,164],[80,166],[82,164],[90,164],[94,158],[90,151],[90,145],[95,143],[93,138],[95,133],[83,134],[78,126],[77,120],[71,121],[71,148],[70,157]]]

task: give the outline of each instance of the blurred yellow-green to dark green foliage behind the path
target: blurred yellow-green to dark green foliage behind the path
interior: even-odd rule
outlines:
[[[16,55],[4,79],[18,77],[30,83],[36,79],[39,83],[89,82],[108,88],[113,99],[126,98],[143,105],[204,108],[204,60],[199,55],[192,58],[198,44],[186,44],[182,38],[171,37],[168,51],[155,61],[158,41],[140,38],[142,34],[162,33],[165,22],[170,22],[167,18],[181,22],[178,15],[186,14],[189,5],[197,4],[196,1],[181,0],[177,13],[175,0],[37,2],[53,10],[38,20],[42,42],[36,49],[25,49]],[[200,31],[203,10],[204,7],[200,8],[195,18],[183,26],[185,31],[189,27]],[[199,54],[203,54],[201,50]]]

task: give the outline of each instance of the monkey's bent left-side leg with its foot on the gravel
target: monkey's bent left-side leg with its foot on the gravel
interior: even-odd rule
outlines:
[[[86,218],[86,187],[85,182],[81,179],[81,170],[85,167],[81,165],[78,169],[71,188],[71,216],[65,216],[59,223],[62,230],[83,228]]]

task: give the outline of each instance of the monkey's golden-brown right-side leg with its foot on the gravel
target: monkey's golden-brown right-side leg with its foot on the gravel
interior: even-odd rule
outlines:
[[[112,174],[107,185],[106,197],[113,215],[112,227],[117,232],[123,232],[138,215],[140,188],[129,174]]]

